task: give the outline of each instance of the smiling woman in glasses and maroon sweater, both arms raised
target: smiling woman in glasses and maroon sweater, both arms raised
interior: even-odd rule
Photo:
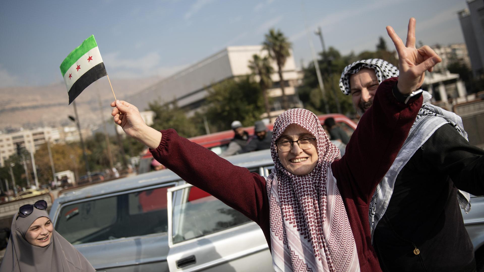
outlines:
[[[393,29],[387,31],[397,41]],[[395,45],[401,64],[413,66],[404,67],[398,82],[390,78],[378,86],[373,106],[360,120],[343,157],[314,113],[290,109],[274,122],[274,168],[267,179],[230,164],[173,129],[154,130],[127,102],[113,102],[111,114],[127,135],[150,147],[161,164],[255,221],[269,244],[275,271],[381,271],[370,242],[369,204],[422,106],[418,95],[405,102],[397,97],[417,90],[424,71],[440,61],[435,52],[423,53],[413,46],[414,34],[412,18],[408,47],[401,40]]]

